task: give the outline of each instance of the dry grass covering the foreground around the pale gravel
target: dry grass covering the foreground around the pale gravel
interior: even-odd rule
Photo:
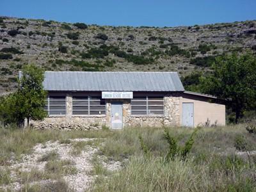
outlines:
[[[64,132],[1,127],[0,186],[12,182],[8,176],[8,160],[13,154],[19,160],[21,154],[31,153],[36,143],[105,138],[104,145],[99,142],[88,145],[100,148],[98,157],[106,156],[106,161],[121,161],[123,166],[120,170],[108,172],[95,161],[94,172],[98,177],[91,186],[92,191],[256,191],[256,155],[246,153],[256,150],[256,136],[245,127],[241,124],[200,128],[186,160],[175,156],[171,161],[166,161],[169,146],[163,128]],[[177,138],[179,146],[184,145],[193,132],[193,129],[183,127],[168,127],[168,130]],[[139,135],[148,149],[147,154],[143,152]],[[237,149],[244,152],[238,154]],[[68,191],[68,188],[63,189],[65,185],[61,183],[61,177],[58,179],[56,191]],[[44,190],[34,188],[30,191]]]

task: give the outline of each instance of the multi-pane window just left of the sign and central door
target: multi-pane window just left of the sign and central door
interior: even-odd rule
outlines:
[[[105,99],[101,97],[73,96],[73,115],[105,115]]]

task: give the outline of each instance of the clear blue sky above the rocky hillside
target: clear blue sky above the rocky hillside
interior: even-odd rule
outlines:
[[[256,0],[1,0],[0,16],[163,28],[256,20]]]

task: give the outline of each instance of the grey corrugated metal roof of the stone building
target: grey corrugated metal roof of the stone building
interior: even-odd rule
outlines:
[[[177,72],[45,72],[48,91],[184,92]]]

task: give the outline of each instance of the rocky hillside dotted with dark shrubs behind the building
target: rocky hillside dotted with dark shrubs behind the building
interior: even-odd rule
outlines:
[[[0,93],[27,63],[45,70],[206,72],[225,52],[256,51],[256,20],[139,28],[0,17]]]

